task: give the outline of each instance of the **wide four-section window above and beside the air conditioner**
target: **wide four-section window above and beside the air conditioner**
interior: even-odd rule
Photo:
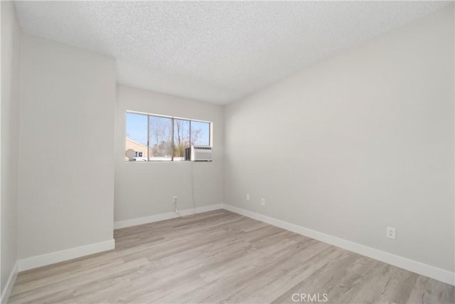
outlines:
[[[127,112],[125,161],[184,161],[191,145],[210,146],[211,122]]]

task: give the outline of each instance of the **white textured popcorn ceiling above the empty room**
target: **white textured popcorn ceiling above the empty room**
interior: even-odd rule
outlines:
[[[434,1],[16,1],[24,31],[117,58],[119,83],[228,103]]]

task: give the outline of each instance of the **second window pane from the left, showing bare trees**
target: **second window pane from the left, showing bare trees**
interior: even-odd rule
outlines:
[[[172,159],[172,119],[149,116],[149,160]]]

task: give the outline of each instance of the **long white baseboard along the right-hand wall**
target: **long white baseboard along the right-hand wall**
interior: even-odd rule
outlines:
[[[365,245],[360,245],[359,243],[354,243],[351,241],[347,241],[345,239],[340,239],[336,236],[331,236],[329,234],[323,234],[322,232],[319,231],[298,226],[296,224],[291,224],[288,223],[287,221],[274,219],[270,216],[265,216],[263,214],[258,214],[256,212],[248,211],[246,209],[231,206],[228,204],[223,204],[223,209],[235,212],[236,214],[241,214],[242,216],[247,216],[252,219],[256,219],[257,221],[263,221],[264,223],[295,232],[296,234],[308,236],[311,239],[316,239],[324,243],[329,243],[333,246],[341,247],[348,251],[361,254],[362,256],[374,258],[375,260],[403,268],[407,271],[419,273],[422,276],[434,278],[437,281],[441,281],[450,285],[455,285],[455,273],[446,271],[441,268],[429,266],[424,263],[410,260],[409,258],[403,258],[402,256],[395,256],[395,254],[392,253],[380,251],[378,249],[371,248]]]

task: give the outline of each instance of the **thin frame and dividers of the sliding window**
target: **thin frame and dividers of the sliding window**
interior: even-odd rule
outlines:
[[[139,112],[139,111],[133,111],[133,110],[126,110],[125,112],[125,139],[127,138],[126,130],[127,130],[127,114],[137,114],[137,115],[146,115],[147,117],[147,161],[146,162],[190,162],[190,160],[179,160],[176,161],[174,160],[174,120],[187,120],[189,122],[189,140],[190,140],[190,147],[192,144],[191,140],[191,122],[204,122],[208,123],[208,146],[206,147],[212,147],[213,145],[213,122],[207,121],[207,120],[195,120],[191,118],[185,118],[185,117],[178,117],[178,116],[168,116],[168,115],[161,115],[161,114],[154,114],[154,113],[147,113],[147,112]],[[150,159],[150,117],[164,117],[164,118],[170,118],[171,119],[171,159],[170,160],[154,160]],[[125,146],[126,148],[126,146]],[[132,161],[125,161],[125,162],[132,162]]]

